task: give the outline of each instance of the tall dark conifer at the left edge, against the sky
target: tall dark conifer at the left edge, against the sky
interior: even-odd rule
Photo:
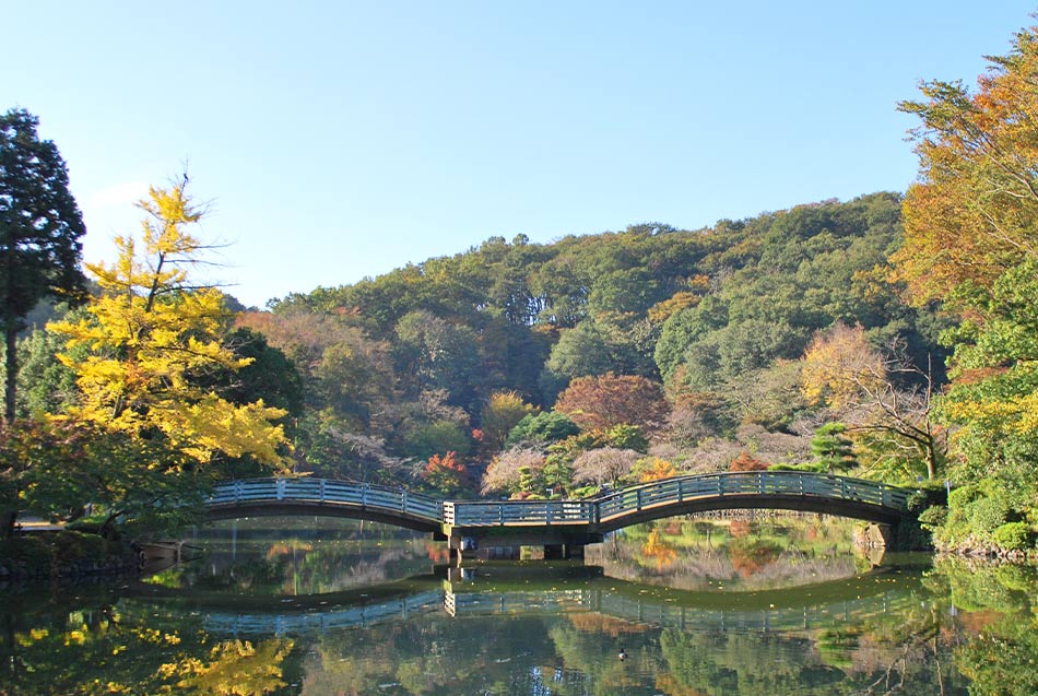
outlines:
[[[5,339],[3,420],[15,417],[17,350],[24,318],[45,298],[79,302],[86,295],[80,270],[86,234],[69,191],[57,146],[39,140],[39,119],[24,109],[0,117],[0,307]]]

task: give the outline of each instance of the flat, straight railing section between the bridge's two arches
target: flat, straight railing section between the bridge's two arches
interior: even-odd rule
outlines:
[[[589,524],[594,512],[594,500],[444,503],[444,521],[456,527]]]

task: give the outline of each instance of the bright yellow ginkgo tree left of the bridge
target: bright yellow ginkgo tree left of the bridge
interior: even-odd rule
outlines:
[[[71,417],[133,438],[160,439],[204,464],[217,453],[284,464],[285,412],[233,403],[212,387],[248,364],[226,344],[223,294],[191,279],[205,246],[188,228],[204,214],[186,194],[187,177],[152,188],[140,238],[117,237],[118,259],[87,264],[101,293],[78,321],[51,323],[68,338],[59,359],[81,391]]]

